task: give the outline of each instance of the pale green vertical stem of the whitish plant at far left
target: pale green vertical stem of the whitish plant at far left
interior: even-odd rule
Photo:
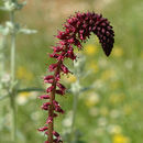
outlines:
[[[14,11],[10,12],[11,23],[14,26]],[[15,81],[15,30],[11,33],[11,116],[12,116],[12,131],[11,131],[11,140],[15,142],[16,139],[16,113],[15,113],[15,89],[14,89],[14,81]]]

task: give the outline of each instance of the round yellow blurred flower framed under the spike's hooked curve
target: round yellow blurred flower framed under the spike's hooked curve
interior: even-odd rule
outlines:
[[[85,53],[87,55],[95,55],[98,53],[98,47],[94,44],[88,44],[85,46]]]

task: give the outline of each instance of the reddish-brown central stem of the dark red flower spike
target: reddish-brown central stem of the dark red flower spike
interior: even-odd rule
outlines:
[[[57,66],[57,69],[55,70],[55,78],[56,78],[56,75],[59,73],[59,68],[61,68],[61,61],[58,62],[58,66]],[[51,106],[50,106],[50,109],[48,109],[48,117],[52,117],[53,118],[53,121],[48,123],[48,142],[50,143],[53,143],[53,131],[54,131],[54,105],[53,105],[53,100],[55,100],[55,92],[56,92],[56,79],[54,78],[54,81],[53,81],[53,91],[51,94],[51,98],[50,98],[50,102],[51,102]]]

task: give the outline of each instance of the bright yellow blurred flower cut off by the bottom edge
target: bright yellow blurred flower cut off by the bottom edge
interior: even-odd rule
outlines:
[[[116,134],[112,138],[112,143],[130,143],[130,139],[122,134]]]

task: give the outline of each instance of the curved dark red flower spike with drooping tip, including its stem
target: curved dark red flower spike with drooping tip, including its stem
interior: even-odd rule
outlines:
[[[51,84],[51,86],[46,89],[46,95],[40,97],[41,99],[48,99],[48,102],[42,106],[43,110],[48,111],[46,125],[38,129],[38,131],[45,132],[48,136],[45,143],[63,142],[61,135],[54,131],[53,121],[54,118],[58,117],[58,113],[64,113],[64,110],[55,99],[56,94],[64,96],[66,90],[65,86],[61,84],[61,74],[70,73],[65,66],[64,59],[76,59],[74,46],[81,50],[81,42],[86,42],[91,32],[98,36],[105,54],[109,56],[114,43],[114,33],[109,21],[102,18],[101,14],[77,12],[75,15],[67,19],[64,24],[64,31],[58,31],[56,35],[59,42],[56,46],[53,46],[53,53],[50,54],[50,57],[55,58],[56,63],[48,67],[48,70],[51,73],[54,72],[54,75],[48,75],[44,78],[44,81]]]

